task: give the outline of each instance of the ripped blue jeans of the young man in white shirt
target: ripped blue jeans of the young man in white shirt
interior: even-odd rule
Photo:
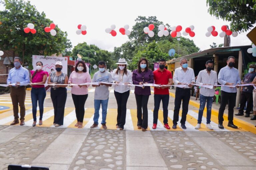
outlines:
[[[213,96],[203,96],[200,94],[200,108],[198,111],[198,120],[197,123],[201,124],[202,122],[202,117],[203,117],[203,112],[204,112],[204,107],[205,107],[205,103],[207,100],[207,114],[206,114],[206,124],[209,124],[211,122],[211,114],[212,114],[212,102],[213,102]]]

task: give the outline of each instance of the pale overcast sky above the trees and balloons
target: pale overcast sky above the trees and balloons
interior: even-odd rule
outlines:
[[[205,33],[209,26],[215,26],[216,31],[220,33],[222,25],[229,25],[228,22],[217,20],[208,14],[206,0],[30,0],[30,2],[39,12],[44,11],[46,17],[62,31],[68,33],[68,39],[73,46],[87,42],[109,51],[128,41],[126,35],[119,33],[119,28],[128,24],[131,31],[138,16],[156,16],[164,24],[181,25],[183,27],[181,32],[186,27],[194,25],[195,37],[185,37],[193,40],[201,50],[210,48],[212,42],[220,44],[224,41],[219,35],[206,37]],[[4,7],[0,6],[0,10],[3,9]],[[78,24],[87,26],[85,36],[76,35]],[[116,37],[105,32],[105,29],[112,24],[116,25]],[[250,45],[251,41],[246,37],[247,33],[241,33],[236,38],[231,36],[231,46]]]

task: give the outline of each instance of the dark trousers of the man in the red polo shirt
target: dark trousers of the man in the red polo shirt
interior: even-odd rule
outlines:
[[[157,124],[158,111],[159,111],[161,100],[162,100],[162,104],[163,104],[164,124],[168,124],[168,104],[169,104],[169,98],[170,98],[169,94],[166,94],[166,95],[155,94],[154,95],[153,124]]]

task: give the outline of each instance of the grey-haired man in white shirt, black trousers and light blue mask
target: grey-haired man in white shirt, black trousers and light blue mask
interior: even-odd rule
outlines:
[[[185,126],[188,104],[190,99],[190,88],[195,84],[194,70],[188,67],[188,60],[186,58],[180,59],[179,68],[175,69],[173,82],[175,85],[182,85],[183,87],[176,87],[175,100],[174,100],[174,113],[173,113],[173,129],[177,128],[177,122],[179,121],[180,105],[182,101],[182,116],[181,116],[181,128],[186,129]]]

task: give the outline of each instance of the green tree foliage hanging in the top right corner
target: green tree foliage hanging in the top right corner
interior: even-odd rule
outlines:
[[[206,0],[208,12],[230,22],[232,31],[247,31],[256,23],[256,0]]]

